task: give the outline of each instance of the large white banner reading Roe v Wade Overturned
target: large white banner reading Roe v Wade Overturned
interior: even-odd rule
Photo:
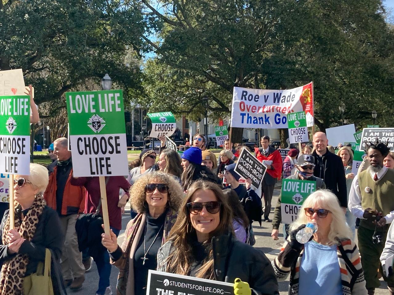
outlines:
[[[231,127],[288,128],[286,115],[304,111],[307,126],[314,123],[313,83],[288,90],[234,87]]]

